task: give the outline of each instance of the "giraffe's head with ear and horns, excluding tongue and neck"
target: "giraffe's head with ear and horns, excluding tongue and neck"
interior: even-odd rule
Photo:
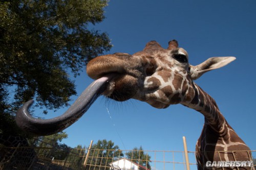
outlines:
[[[114,75],[103,92],[108,98],[136,99],[156,108],[166,108],[190,103],[195,96],[193,80],[234,59],[214,57],[192,66],[188,63],[188,53],[178,47],[176,40],[169,41],[167,49],[150,41],[143,51],[133,55],[115,53],[94,58],[87,65],[87,73],[93,79]]]

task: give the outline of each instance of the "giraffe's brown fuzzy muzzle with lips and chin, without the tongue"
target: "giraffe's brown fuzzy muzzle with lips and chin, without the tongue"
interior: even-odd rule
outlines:
[[[132,58],[127,54],[99,56],[88,63],[87,74],[92,79],[112,75],[113,78],[102,94],[119,102],[126,101],[135,95],[139,77],[139,72],[133,69],[129,60]]]

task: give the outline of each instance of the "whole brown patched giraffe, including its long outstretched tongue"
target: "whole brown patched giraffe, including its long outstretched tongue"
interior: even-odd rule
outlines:
[[[223,67],[235,59],[213,57],[193,66],[188,63],[188,53],[178,47],[176,40],[169,41],[166,49],[158,42],[150,41],[142,51],[133,55],[115,53],[92,59],[87,65],[87,74],[96,81],[62,116],[35,119],[28,112],[32,104],[29,101],[17,111],[16,122],[31,133],[52,134],[74,123],[100,94],[120,102],[139,100],[159,109],[181,104],[200,112],[205,119],[196,144],[198,169],[217,169],[207,167],[207,161],[251,161],[249,147],[227,123],[215,100],[194,82],[205,72]],[[228,151],[236,152],[230,154]]]

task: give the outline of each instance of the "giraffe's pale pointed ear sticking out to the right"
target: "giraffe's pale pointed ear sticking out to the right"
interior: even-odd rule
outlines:
[[[221,68],[234,60],[236,60],[236,57],[212,57],[199,65],[189,65],[190,78],[192,80],[196,80],[200,78],[205,72],[210,71],[212,69]]]

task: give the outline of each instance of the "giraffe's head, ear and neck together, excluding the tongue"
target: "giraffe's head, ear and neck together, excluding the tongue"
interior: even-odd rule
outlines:
[[[103,93],[114,100],[133,98],[160,109],[182,104],[202,113],[205,123],[196,144],[196,157],[198,169],[206,169],[207,161],[251,160],[248,152],[227,153],[250,149],[227,123],[215,100],[194,82],[205,72],[234,59],[215,57],[192,66],[188,64],[187,52],[178,47],[176,40],[170,41],[167,49],[151,41],[142,52],[134,55],[116,53],[97,57],[88,63],[87,73],[98,79],[116,72],[116,78]]]

